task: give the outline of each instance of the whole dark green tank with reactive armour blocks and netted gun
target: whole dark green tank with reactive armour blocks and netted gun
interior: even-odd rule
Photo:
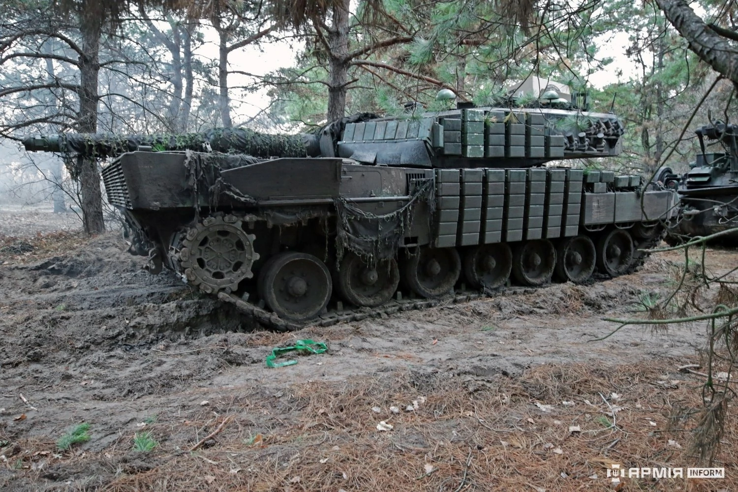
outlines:
[[[676,193],[568,165],[618,155],[623,132],[613,114],[551,105],[359,114],[303,135],[24,143],[114,157],[108,201],[151,273],[294,329],[632,271]]]

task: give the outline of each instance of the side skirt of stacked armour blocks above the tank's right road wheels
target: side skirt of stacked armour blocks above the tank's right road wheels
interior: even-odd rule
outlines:
[[[438,248],[568,238],[580,229],[666,220],[676,195],[639,176],[576,169],[435,170]]]

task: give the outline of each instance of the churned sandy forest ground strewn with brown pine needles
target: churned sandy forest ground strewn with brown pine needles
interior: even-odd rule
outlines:
[[[727,478],[606,476],[697,462],[704,378],[677,367],[703,364],[705,325],[593,341],[618,326],[604,317],[666,295],[680,254],[590,285],[274,333],[143,271],[118,235],[62,221],[0,212],[2,491],[738,490],[732,406]],[[711,250],[706,264],[737,262]],[[297,339],[328,351],[265,366]],[[80,423],[89,440],[60,450]],[[135,450],[144,437],[154,448]]]

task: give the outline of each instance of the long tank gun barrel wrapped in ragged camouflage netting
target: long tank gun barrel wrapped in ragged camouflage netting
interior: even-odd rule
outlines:
[[[26,150],[60,152],[69,156],[117,157],[126,152],[196,150],[245,153],[255,157],[305,157],[320,155],[317,136],[311,134],[264,134],[249,128],[212,128],[190,134],[57,134],[34,135],[23,140]]]

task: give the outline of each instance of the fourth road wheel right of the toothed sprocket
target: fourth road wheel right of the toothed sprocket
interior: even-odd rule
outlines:
[[[472,246],[463,257],[466,282],[473,288],[492,290],[505,285],[512,270],[512,251],[507,243]]]

